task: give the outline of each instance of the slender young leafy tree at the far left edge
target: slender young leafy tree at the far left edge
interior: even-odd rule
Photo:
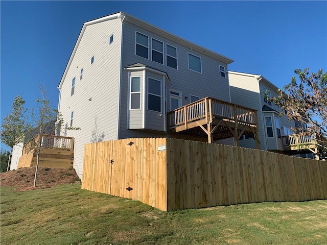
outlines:
[[[1,125],[1,141],[10,147],[8,158],[7,172],[10,169],[11,153],[14,145],[23,142],[25,132],[28,129],[26,123],[25,101],[17,95],[12,104],[12,110],[9,115],[4,118]]]

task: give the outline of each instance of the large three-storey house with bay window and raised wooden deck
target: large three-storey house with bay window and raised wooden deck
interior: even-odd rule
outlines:
[[[64,127],[81,128],[57,132],[75,138],[78,175],[94,139],[255,135],[256,111],[230,103],[231,62],[124,12],[85,22],[58,86]]]

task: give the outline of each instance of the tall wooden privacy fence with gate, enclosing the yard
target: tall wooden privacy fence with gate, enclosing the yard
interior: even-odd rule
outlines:
[[[82,188],[169,211],[327,199],[327,164],[171,138],[85,145]]]

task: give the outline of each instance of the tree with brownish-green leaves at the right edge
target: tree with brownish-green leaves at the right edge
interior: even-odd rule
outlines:
[[[319,69],[310,75],[309,68],[296,69],[298,81],[292,78],[284,90],[278,89],[277,97],[267,100],[282,108],[289,120],[302,121],[308,125],[300,131],[313,135],[318,133],[327,137],[327,72]]]

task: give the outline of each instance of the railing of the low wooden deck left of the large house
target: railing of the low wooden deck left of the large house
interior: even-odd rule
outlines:
[[[36,135],[33,139],[27,142],[24,145],[22,154],[27,154],[31,149],[34,148],[34,145],[37,144],[40,139],[40,135]],[[46,149],[61,149],[66,151],[73,151],[74,149],[74,138],[73,137],[65,137],[65,136],[57,136],[50,134],[42,134],[41,135],[41,147]]]

